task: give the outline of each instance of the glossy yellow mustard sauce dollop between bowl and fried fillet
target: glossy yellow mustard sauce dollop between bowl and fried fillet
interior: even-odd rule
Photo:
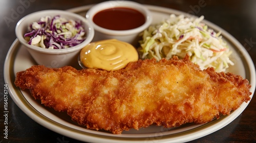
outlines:
[[[84,66],[109,71],[121,69],[138,59],[133,45],[116,39],[91,42],[80,52],[80,61]]]

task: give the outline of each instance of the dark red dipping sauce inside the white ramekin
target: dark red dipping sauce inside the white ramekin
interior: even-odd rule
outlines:
[[[93,21],[105,29],[130,30],[142,26],[145,16],[132,8],[116,7],[96,13]]]

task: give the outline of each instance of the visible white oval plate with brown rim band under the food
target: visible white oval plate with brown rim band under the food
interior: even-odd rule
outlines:
[[[164,19],[164,17],[169,16],[169,14],[171,13],[177,15],[186,15],[186,13],[173,9],[147,5],[145,6],[150,9],[153,14],[153,23],[160,22]],[[83,6],[70,9],[69,11],[79,13],[84,16],[86,14],[86,11],[90,7],[91,5]],[[255,68],[249,54],[246,52],[244,47],[226,31],[206,20],[204,20],[203,22],[205,22],[210,28],[214,29],[215,31],[222,31],[224,39],[228,42],[230,49],[233,51],[231,60],[235,63],[235,66],[231,66],[229,68],[229,72],[241,75],[242,77],[248,79],[252,86],[250,91],[253,95],[255,90],[256,78]],[[17,104],[17,106],[22,109],[22,111],[24,111],[35,122],[59,134],[69,136],[71,138],[81,141],[186,142],[203,137],[225,127],[234,119],[236,119],[249,104],[249,102],[243,103],[239,109],[233,111],[230,115],[221,116],[219,120],[214,120],[204,125],[185,124],[181,127],[172,129],[150,126],[148,128],[139,129],[138,131],[124,131],[120,135],[112,134],[106,131],[88,130],[73,122],[71,120],[71,117],[69,117],[66,113],[59,113],[54,111],[53,109],[41,105],[39,101],[35,101],[31,97],[28,91],[22,91],[14,85],[16,73],[18,71],[25,70],[35,64],[36,63],[31,58],[25,47],[22,46],[16,39],[10,47],[4,65],[5,82],[9,85],[9,93],[11,98]]]

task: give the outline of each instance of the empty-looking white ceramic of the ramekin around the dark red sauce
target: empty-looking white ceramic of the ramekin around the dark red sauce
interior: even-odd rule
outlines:
[[[130,8],[139,11],[144,15],[145,22],[143,25],[129,30],[111,30],[98,26],[93,18],[95,14],[102,10],[114,9],[114,8]],[[95,36],[93,41],[105,40],[105,39],[117,39],[124,42],[131,43],[133,45],[138,43],[138,34],[148,28],[152,23],[151,12],[143,5],[131,2],[131,1],[106,1],[94,5],[89,9],[86,14],[86,18],[92,23]]]

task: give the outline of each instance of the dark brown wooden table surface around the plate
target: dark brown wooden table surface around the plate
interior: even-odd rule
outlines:
[[[46,9],[66,10],[84,5],[100,3],[99,0],[2,0],[0,1],[0,111],[4,110],[4,74],[3,67],[7,52],[16,39],[15,25],[23,16]],[[161,6],[204,15],[209,20],[236,38],[256,63],[256,1],[211,1],[211,0],[138,0],[141,4]],[[20,110],[11,98],[8,99],[9,132],[8,139],[3,136],[4,116],[0,117],[0,142],[80,142],[55,133],[34,122]],[[190,142],[256,142],[256,98],[236,120],[222,129]]]

